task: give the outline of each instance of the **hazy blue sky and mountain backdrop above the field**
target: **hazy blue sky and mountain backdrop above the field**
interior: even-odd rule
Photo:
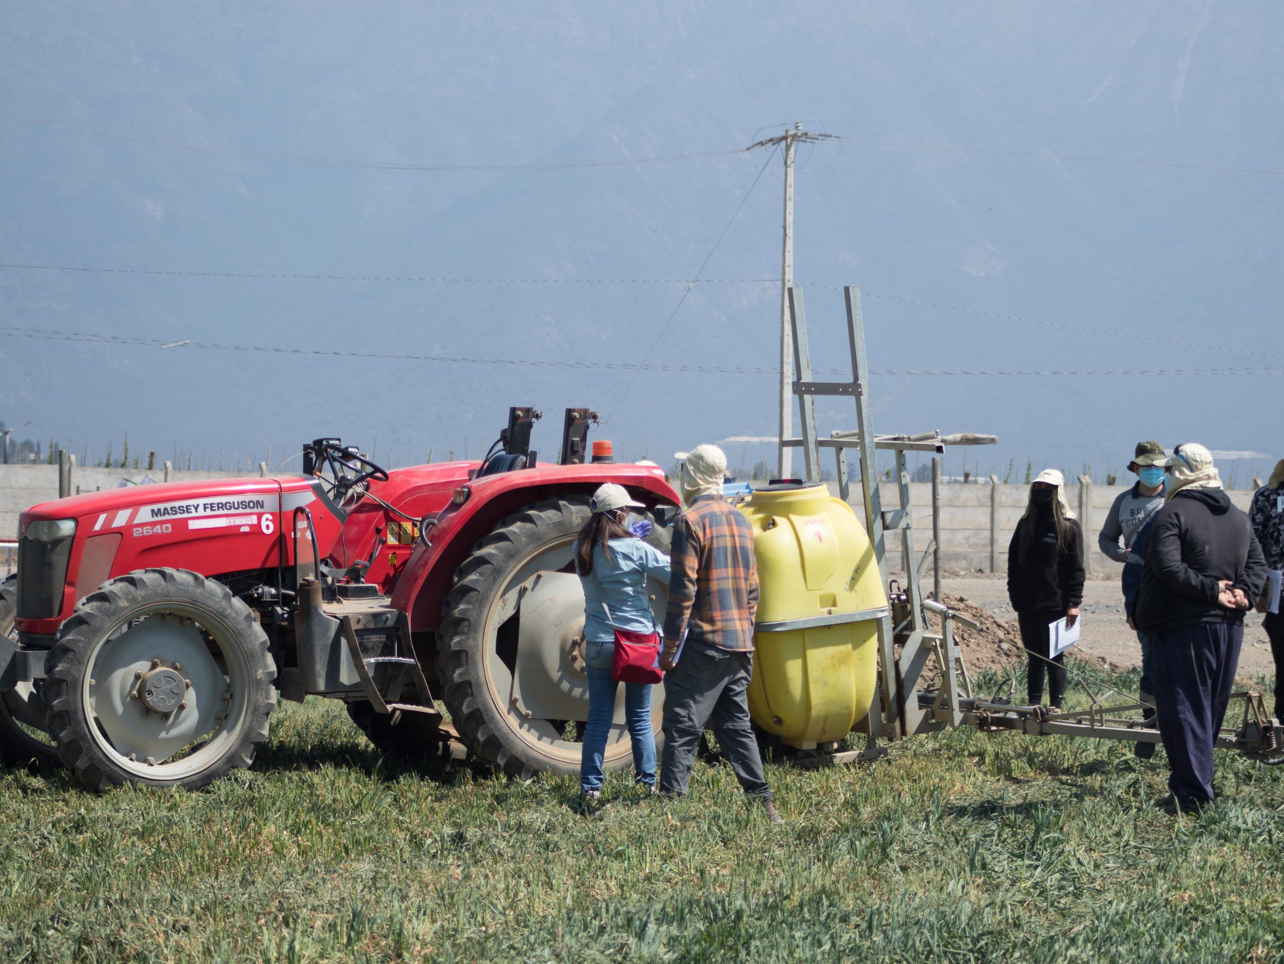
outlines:
[[[842,368],[859,285],[877,431],[999,436],[948,474],[1102,480],[1154,438],[1265,475],[1281,27],[1267,3],[14,5],[0,420],[275,469],[321,435],[476,457],[512,404],[552,454],[588,406],[628,458],[752,463],[776,379],[700,370],[778,363],[782,164],[737,151],[799,122],[840,135],[797,158],[813,363]]]

